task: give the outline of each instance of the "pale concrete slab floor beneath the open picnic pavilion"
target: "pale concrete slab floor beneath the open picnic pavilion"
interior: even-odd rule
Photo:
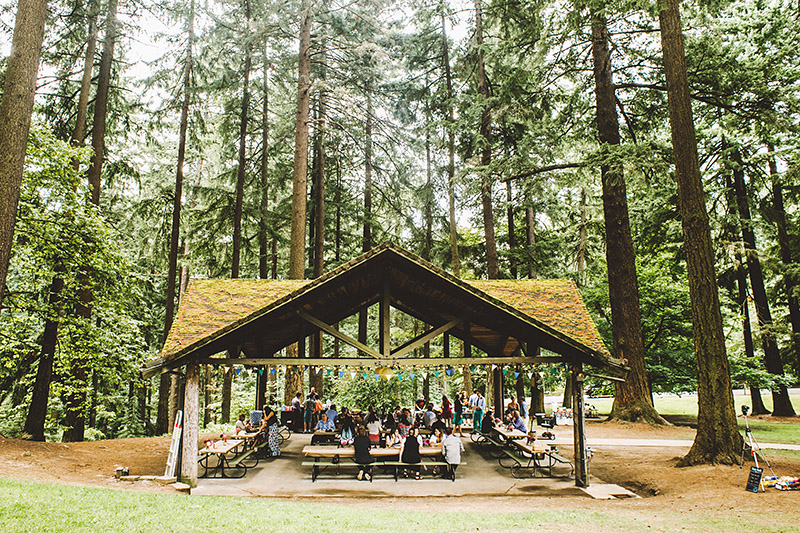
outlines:
[[[507,468],[501,467],[488,450],[463,437],[464,454],[458,468],[456,481],[433,477],[431,470],[423,471],[423,478],[400,478],[397,482],[391,474],[382,474],[376,467],[372,482],[358,481],[357,469],[346,466],[336,474],[336,467],[329,467],[315,482],[311,481],[311,467],[302,466],[302,449],[311,441],[310,435],[295,434],[286,441],[281,456],[262,460],[249,469],[242,479],[200,479],[192,490],[194,495],[256,496],[267,498],[314,499],[321,498],[429,498],[453,496],[543,496],[543,497],[592,497],[575,486],[573,478],[514,479]],[[571,447],[562,451],[571,456]],[[594,477],[590,485],[602,484]],[[616,487],[616,486],[615,486]],[[615,489],[616,490],[616,489]],[[618,492],[623,493],[619,488]],[[608,491],[606,491],[608,493]]]

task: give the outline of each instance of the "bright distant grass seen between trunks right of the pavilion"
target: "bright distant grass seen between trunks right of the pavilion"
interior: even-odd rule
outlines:
[[[772,396],[763,394],[764,404],[767,409],[772,409]],[[792,405],[795,411],[800,413],[800,395],[791,396]],[[613,398],[587,398],[586,401],[595,407],[601,414],[611,412]],[[750,405],[750,396],[734,396],[736,402],[736,414],[742,411],[742,405]],[[681,422],[689,424],[697,421],[697,398],[695,396],[684,396],[682,398],[655,398],[656,409],[662,415],[674,415]],[[744,429],[744,419],[739,419],[739,426]],[[800,444],[800,423],[791,422],[772,422],[762,420],[750,420],[750,428],[756,438],[762,442],[777,442],[783,444]]]

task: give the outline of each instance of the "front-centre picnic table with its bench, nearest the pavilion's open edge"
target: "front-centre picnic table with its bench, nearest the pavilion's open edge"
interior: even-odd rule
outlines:
[[[419,454],[423,458],[426,466],[447,466],[447,463],[442,458],[441,446],[421,446]],[[341,460],[348,459],[349,463],[344,463],[344,466],[357,466],[354,459],[356,456],[355,448],[352,446],[305,446],[303,448],[303,455],[308,458],[313,458],[313,462],[304,462],[303,466],[311,466],[311,481],[316,481],[319,474],[327,469],[329,466],[342,466]],[[394,479],[397,481],[399,471],[403,466],[416,466],[406,465],[399,461],[400,447],[390,446],[387,448],[372,448],[370,455],[375,459],[372,466],[390,467],[394,471]],[[425,461],[425,459],[428,459]],[[337,470],[338,471],[338,470]],[[455,481],[455,480],[454,480]]]

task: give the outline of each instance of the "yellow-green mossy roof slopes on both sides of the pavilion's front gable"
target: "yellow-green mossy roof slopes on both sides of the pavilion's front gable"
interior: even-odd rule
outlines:
[[[161,355],[216,336],[238,321],[272,307],[311,280],[196,279],[189,284]],[[470,286],[609,356],[571,280],[468,281]]]

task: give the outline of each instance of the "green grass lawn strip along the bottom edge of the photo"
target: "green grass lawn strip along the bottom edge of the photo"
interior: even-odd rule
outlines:
[[[606,503],[607,502],[598,502]],[[325,503],[256,498],[146,494],[0,479],[0,527],[17,531],[796,531],[797,510],[757,509],[704,513],[653,513],[638,506],[598,505],[602,511],[569,509],[560,500],[545,510],[490,513],[442,500],[441,512],[376,510]],[[494,504],[486,502],[487,509]],[[511,510],[511,508],[509,509]]]

